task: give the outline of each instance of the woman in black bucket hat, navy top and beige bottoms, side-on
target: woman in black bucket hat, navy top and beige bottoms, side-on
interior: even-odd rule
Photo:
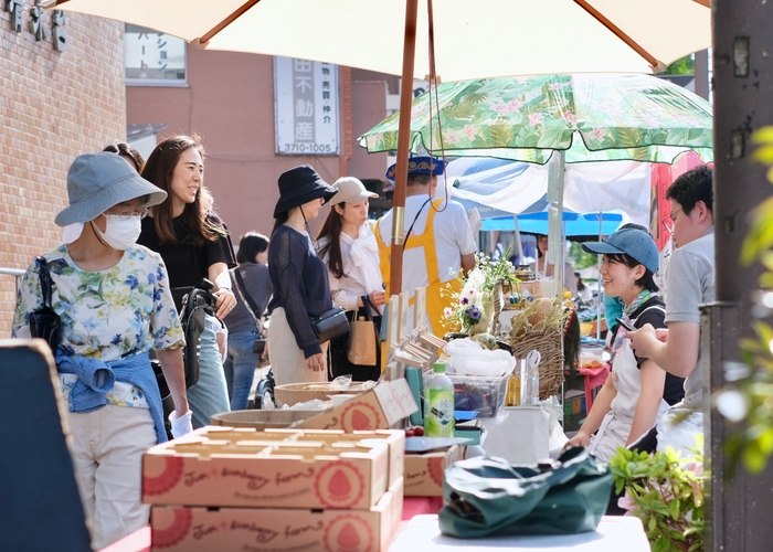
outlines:
[[[268,354],[277,385],[327,381],[324,349],[309,317],[332,308],[327,267],[317,255],[307,221],[336,194],[308,164],[279,176],[279,201],[268,248],[274,297],[268,326]]]

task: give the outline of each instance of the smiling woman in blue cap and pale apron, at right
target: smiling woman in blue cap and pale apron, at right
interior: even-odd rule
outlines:
[[[636,357],[623,326],[666,326],[665,305],[653,280],[659,262],[655,241],[640,230],[623,229],[603,242],[585,243],[582,248],[604,256],[600,270],[604,293],[620,297],[625,307],[613,339],[610,378],[568,445],[587,446],[597,459],[608,461],[617,447],[635,442],[655,425],[669,404],[681,400],[684,380],[667,374],[652,360]]]

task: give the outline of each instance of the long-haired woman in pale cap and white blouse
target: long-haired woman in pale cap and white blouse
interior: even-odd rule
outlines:
[[[379,268],[379,244],[368,221],[369,192],[359,179],[345,177],[332,187],[338,190],[330,200],[332,209],[319,232],[319,255],[330,278],[332,302],[348,311],[350,320],[374,318],[381,326],[384,284]],[[375,308],[375,310],[373,309]],[[349,361],[349,336],[330,340],[332,376],[350,374],[354,381],[378,380],[381,376],[380,347],[375,347],[373,364]]]

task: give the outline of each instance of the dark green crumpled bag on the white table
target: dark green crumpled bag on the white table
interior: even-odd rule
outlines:
[[[612,473],[583,447],[538,465],[470,458],[445,470],[441,532],[478,539],[594,531],[611,492]]]

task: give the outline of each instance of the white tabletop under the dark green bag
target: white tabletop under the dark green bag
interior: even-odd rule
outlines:
[[[649,552],[649,542],[638,518],[603,517],[599,529],[587,533],[539,537],[489,537],[460,540],[444,537],[437,516],[416,516],[390,546],[390,552],[421,550],[422,552],[478,552],[491,549],[546,552]]]

